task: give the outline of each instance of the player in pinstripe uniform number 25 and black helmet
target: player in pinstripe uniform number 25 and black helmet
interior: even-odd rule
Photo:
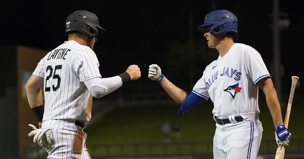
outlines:
[[[140,78],[141,72],[130,65],[119,75],[101,77],[93,46],[105,30],[95,14],[75,11],[66,18],[65,29],[68,41],[41,59],[25,85],[40,123],[40,128],[29,125],[33,130],[28,135],[45,148],[48,158],[91,158],[83,130],[91,119],[92,98]]]

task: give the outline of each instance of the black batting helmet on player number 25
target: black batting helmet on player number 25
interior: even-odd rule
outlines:
[[[96,37],[105,30],[99,26],[98,18],[94,13],[85,10],[74,11],[65,20],[65,33],[81,31],[89,37]]]

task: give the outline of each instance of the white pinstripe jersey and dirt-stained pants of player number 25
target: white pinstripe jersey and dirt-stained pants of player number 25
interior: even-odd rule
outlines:
[[[50,51],[33,71],[44,78],[45,112],[42,128],[52,128],[54,147],[48,158],[91,158],[87,134],[75,125],[91,119],[92,95],[83,83],[101,77],[96,54],[75,41],[64,42]]]

